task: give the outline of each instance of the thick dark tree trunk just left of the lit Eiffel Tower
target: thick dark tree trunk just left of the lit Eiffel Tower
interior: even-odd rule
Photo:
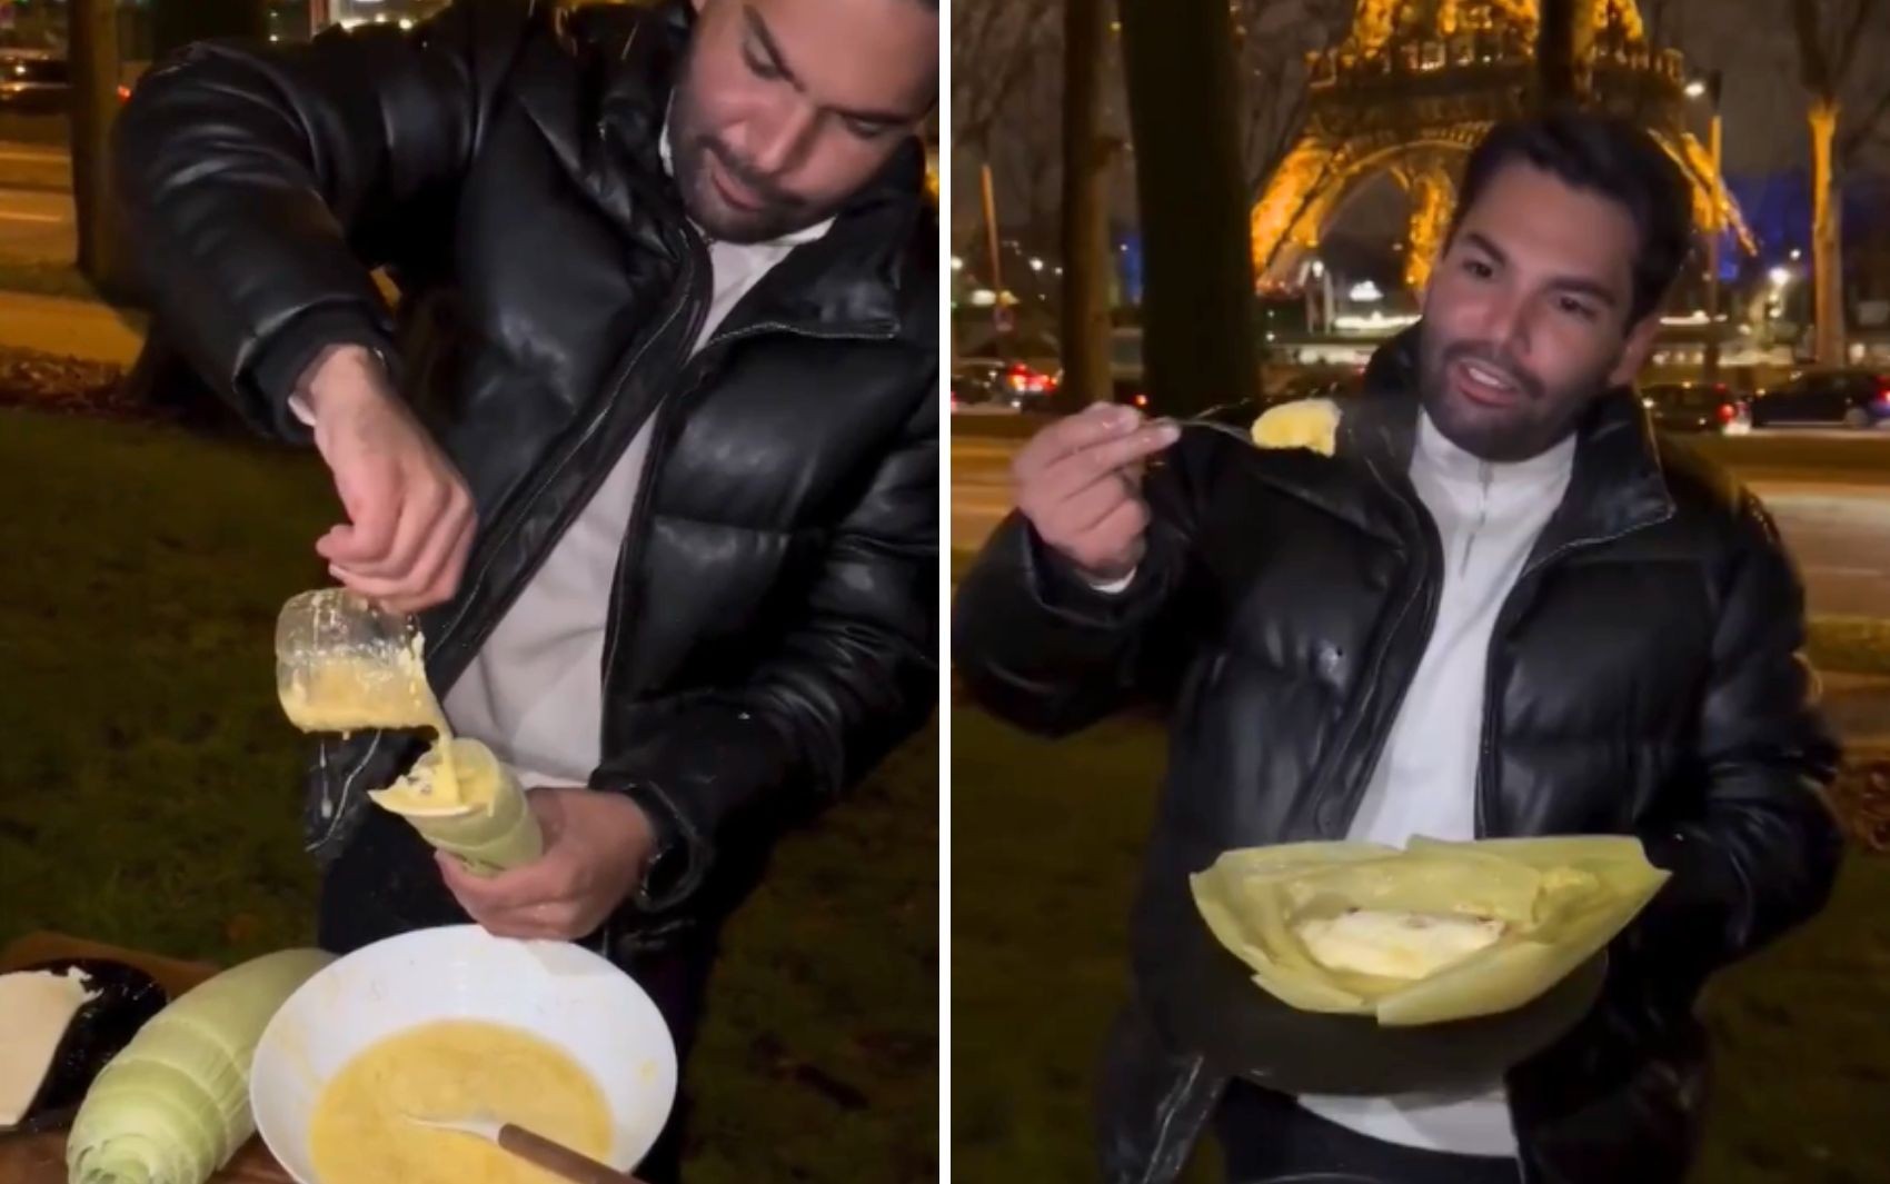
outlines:
[[[1234,23],[1225,4],[1121,0],[1121,13],[1149,399],[1162,414],[1246,401],[1259,357]]]

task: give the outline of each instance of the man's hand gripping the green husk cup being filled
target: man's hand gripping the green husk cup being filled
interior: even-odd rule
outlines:
[[[643,879],[656,849],[650,819],[629,798],[593,789],[533,789],[544,853],[491,878],[438,855],[459,906],[501,938],[575,940],[603,925]]]

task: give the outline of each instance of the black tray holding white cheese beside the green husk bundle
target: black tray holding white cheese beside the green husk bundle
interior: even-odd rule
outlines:
[[[40,1093],[26,1106],[26,1116],[11,1127],[0,1125],[0,1135],[34,1135],[40,1131],[59,1131],[72,1125],[72,1118],[85,1101],[98,1071],[115,1057],[138,1029],[164,1010],[170,1002],[164,987],[157,985],[144,970],[127,963],[100,957],[62,957],[49,963],[34,963],[21,970],[51,970],[60,974],[77,968],[91,980],[89,989],[98,991],[72,1018],[53,1065]]]

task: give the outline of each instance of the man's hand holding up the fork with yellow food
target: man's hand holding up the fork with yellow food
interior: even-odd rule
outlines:
[[[1130,407],[1096,405],[1040,431],[1011,465],[1017,509],[1089,579],[1134,571],[1147,543],[1142,461],[1179,437]]]

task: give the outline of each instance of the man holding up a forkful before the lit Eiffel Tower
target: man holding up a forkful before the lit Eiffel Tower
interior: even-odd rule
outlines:
[[[1682,1178],[1695,995],[1813,915],[1841,855],[1792,564],[1758,501],[1656,437],[1627,390],[1688,238],[1684,183],[1644,132],[1499,127],[1423,322],[1340,405],[1332,458],[1126,409],[1019,454],[1019,513],[958,592],[958,671],[1045,732],[1168,688],[1138,999],[1098,1116],[1108,1180],[1174,1180],[1210,1125],[1240,1184]],[[1671,879],[1586,1019],[1503,1080],[1293,1097],[1164,1035],[1191,872],[1232,847],[1412,834],[1639,836]]]

